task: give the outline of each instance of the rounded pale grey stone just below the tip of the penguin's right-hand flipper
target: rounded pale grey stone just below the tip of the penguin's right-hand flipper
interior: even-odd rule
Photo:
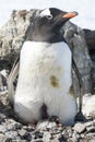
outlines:
[[[74,125],[73,129],[79,132],[79,133],[82,133],[86,130],[86,127],[84,123],[81,123],[81,122],[78,122]]]

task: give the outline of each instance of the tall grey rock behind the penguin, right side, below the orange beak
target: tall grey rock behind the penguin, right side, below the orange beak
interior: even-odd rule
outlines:
[[[80,84],[78,80],[79,74],[81,79],[82,94],[90,93],[91,91],[93,91],[91,81],[92,61],[88,55],[84,32],[82,31],[82,28],[78,27],[76,25],[70,22],[67,22],[66,26],[63,26],[62,29],[64,32],[63,36],[71,47],[71,50],[73,52],[73,60],[78,68],[78,71],[73,70],[74,92],[79,96],[80,94]]]

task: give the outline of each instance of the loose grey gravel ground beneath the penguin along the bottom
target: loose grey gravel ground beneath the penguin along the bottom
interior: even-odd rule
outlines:
[[[8,104],[8,92],[0,94],[0,142],[95,142],[95,119],[87,117],[66,127],[54,120],[24,125]]]

